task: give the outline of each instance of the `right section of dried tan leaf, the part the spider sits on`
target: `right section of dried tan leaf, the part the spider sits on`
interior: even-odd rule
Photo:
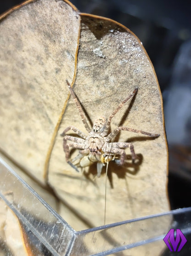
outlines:
[[[120,24],[88,15],[81,15],[79,45],[74,90],[90,120],[94,122],[102,115],[108,117],[138,85],[135,99],[113,118],[112,130],[123,124],[160,133],[160,137],[151,139],[121,132],[118,141],[134,143],[140,164],[132,165],[131,159],[124,167],[109,163],[107,223],[168,210],[161,95],[145,50],[132,32]],[[95,49],[99,49],[100,56]],[[98,226],[104,219],[105,175],[95,177],[96,170],[92,167],[82,175],[66,162],[63,165],[59,134],[68,125],[87,133],[73,98],[67,104],[51,155],[49,183],[73,211],[85,217],[90,225]],[[129,149],[126,152],[130,155]]]

